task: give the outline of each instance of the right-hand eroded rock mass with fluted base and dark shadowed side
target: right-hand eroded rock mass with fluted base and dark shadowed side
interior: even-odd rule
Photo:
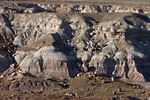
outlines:
[[[89,66],[124,80],[149,80],[149,18],[133,14],[121,21],[100,23],[98,27],[93,40],[101,41],[101,52],[94,54]]]

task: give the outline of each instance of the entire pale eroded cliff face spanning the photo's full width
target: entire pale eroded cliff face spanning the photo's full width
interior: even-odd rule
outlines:
[[[43,9],[52,11],[51,7]],[[104,11],[93,7],[96,12]],[[1,15],[1,72],[16,63],[22,73],[38,77],[64,79],[94,71],[122,80],[150,80],[148,15],[56,11],[61,13]]]

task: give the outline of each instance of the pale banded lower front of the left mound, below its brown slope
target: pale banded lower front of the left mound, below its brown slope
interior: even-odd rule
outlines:
[[[64,55],[61,52],[54,52],[49,47],[43,47],[39,51],[26,56],[19,66],[23,73],[29,72],[35,76],[63,79],[64,77],[73,77],[78,73],[76,66],[73,66],[74,60],[74,57]]]

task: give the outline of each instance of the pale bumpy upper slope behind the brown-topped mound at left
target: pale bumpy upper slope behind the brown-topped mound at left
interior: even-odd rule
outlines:
[[[45,34],[58,32],[58,29],[62,24],[62,20],[55,14],[48,14],[48,18],[46,18],[47,16],[45,14],[15,16],[17,16],[16,19],[12,21],[12,24],[14,25],[13,29],[17,34],[14,44],[19,47],[30,44]],[[40,17],[37,19],[37,16]],[[28,20],[28,22],[24,20]]]

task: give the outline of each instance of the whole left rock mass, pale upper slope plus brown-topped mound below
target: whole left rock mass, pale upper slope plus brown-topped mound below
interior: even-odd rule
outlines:
[[[62,79],[74,77],[78,73],[77,58],[62,37],[67,34],[60,28],[64,24],[61,19],[55,14],[15,16],[18,18],[12,21],[12,28],[17,35],[14,44],[20,50],[14,57],[23,73]]]

